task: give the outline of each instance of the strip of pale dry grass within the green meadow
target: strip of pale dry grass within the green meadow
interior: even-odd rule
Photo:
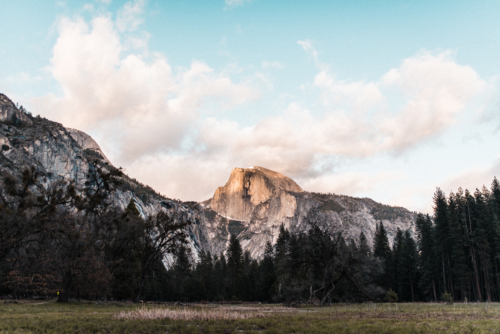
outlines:
[[[250,310],[247,307],[142,307],[135,311],[119,311],[114,315],[117,319],[171,319],[171,320],[236,320],[264,317],[262,308]],[[250,308],[250,307],[248,307]],[[243,310],[244,309],[244,310]]]

